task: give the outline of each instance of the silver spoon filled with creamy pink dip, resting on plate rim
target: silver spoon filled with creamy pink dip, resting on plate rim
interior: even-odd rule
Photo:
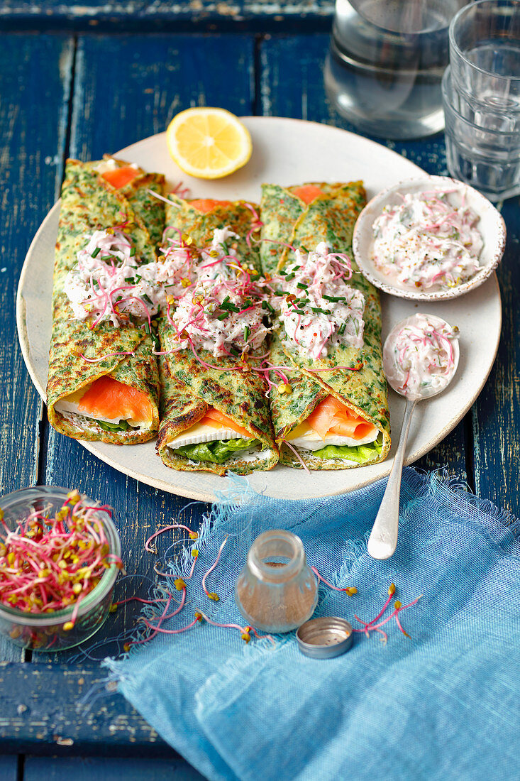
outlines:
[[[372,558],[390,558],[397,547],[399,496],[404,452],[415,405],[447,388],[457,371],[458,328],[434,315],[417,313],[397,323],[386,337],[383,369],[390,386],[406,398],[394,464],[370,534]]]

